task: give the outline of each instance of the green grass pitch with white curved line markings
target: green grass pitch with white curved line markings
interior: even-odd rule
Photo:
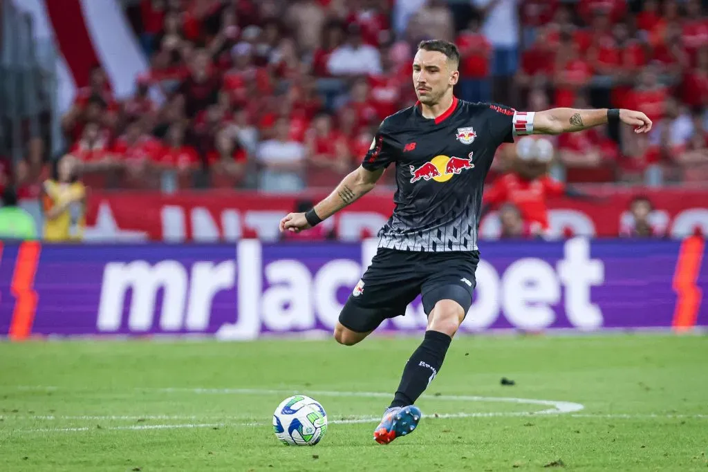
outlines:
[[[416,432],[379,445],[418,343],[0,343],[0,470],[708,470],[708,337],[460,337]],[[292,393],[327,411],[315,447],[273,435]]]

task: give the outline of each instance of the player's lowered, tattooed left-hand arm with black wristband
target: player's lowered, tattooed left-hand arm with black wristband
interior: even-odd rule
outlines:
[[[343,178],[337,188],[309,212],[290,213],[281,219],[280,231],[299,233],[299,231],[304,229],[312,228],[315,224],[331,217],[369,192],[374,188],[382,173],[384,173],[384,168],[380,168],[377,171],[367,171],[359,166],[359,168]]]

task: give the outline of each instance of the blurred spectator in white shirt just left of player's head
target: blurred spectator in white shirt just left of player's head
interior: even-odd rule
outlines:
[[[330,54],[327,71],[332,76],[380,74],[382,68],[379,50],[365,44],[361,28],[352,24],[348,28],[346,42]]]

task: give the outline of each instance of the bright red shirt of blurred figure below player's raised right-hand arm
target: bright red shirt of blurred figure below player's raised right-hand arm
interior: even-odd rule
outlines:
[[[537,223],[542,229],[548,229],[549,197],[559,197],[566,188],[561,182],[553,180],[548,175],[535,180],[525,180],[518,174],[508,173],[498,178],[484,197],[492,205],[513,203],[521,212],[521,217],[529,224]]]

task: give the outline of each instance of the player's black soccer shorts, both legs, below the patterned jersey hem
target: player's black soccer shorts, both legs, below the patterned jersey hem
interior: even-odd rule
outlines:
[[[379,248],[339,313],[339,322],[357,333],[367,333],[386,318],[404,315],[418,294],[423,295],[428,315],[445,299],[457,301],[467,313],[478,263],[479,251],[429,253]]]

